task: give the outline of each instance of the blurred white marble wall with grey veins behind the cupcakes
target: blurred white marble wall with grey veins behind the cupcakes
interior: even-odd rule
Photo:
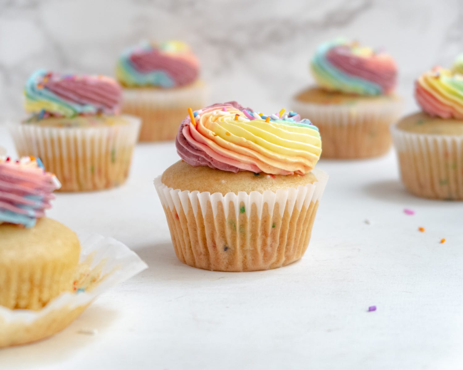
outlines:
[[[113,74],[140,39],[181,39],[202,62],[211,102],[259,111],[288,108],[312,83],[308,60],[332,37],[384,47],[400,68],[399,93],[463,51],[460,0],[0,0],[0,122],[18,119],[22,86],[36,68]]]

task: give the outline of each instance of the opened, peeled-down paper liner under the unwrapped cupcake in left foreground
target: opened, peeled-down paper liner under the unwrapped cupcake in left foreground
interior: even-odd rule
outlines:
[[[101,293],[148,267],[113,238],[90,235],[80,239],[75,291],[61,294],[38,311],[0,306],[0,348],[31,343],[63,330]]]

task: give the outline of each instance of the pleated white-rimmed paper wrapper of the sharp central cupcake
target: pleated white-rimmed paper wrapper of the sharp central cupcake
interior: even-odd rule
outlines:
[[[256,271],[288,265],[302,257],[328,175],[276,192],[235,194],[180,191],[157,177],[177,258],[215,271]]]

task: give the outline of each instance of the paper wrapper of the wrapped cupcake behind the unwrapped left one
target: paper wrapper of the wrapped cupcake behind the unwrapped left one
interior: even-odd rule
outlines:
[[[125,182],[140,129],[138,117],[123,115],[128,124],[88,127],[11,125],[19,156],[32,155],[55,173],[59,191],[94,191]]]

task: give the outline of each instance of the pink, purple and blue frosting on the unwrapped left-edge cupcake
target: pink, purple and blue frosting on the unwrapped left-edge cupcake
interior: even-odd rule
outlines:
[[[0,157],[0,224],[34,226],[50,208],[50,200],[54,199],[51,193],[60,187],[56,176],[45,172],[40,160]]]

